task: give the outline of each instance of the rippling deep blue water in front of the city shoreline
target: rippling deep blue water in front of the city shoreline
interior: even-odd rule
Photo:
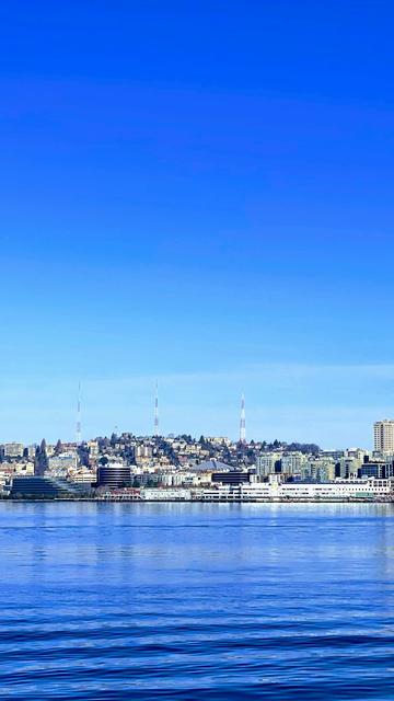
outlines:
[[[7,699],[393,699],[391,505],[0,504]]]

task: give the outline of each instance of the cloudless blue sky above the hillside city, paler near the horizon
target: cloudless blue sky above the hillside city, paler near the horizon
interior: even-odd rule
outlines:
[[[0,440],[370,445],[394,415],[389,1],[3,0]]]

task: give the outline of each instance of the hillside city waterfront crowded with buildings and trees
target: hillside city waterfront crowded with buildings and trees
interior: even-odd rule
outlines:
[[[389,494],[394,483],[393,426],[376,422],[373,450],[131,433],[55,445],[8,443],[0,447],[0,494],[201,501],[376,496],[378,487]]]

